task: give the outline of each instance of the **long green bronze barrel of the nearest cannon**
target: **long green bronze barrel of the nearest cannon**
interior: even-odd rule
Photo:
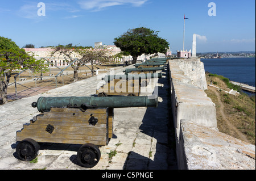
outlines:
[[[116,96],[116,97],[93,97],[93,96],[70,96],[70,97],[40,97],[32,103],[39,112],[49,111],[51,107],[158,107],[158,97],[148,96]]]

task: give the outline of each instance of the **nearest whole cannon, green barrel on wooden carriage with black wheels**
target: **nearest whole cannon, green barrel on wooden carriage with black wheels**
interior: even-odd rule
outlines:
[[[158,98],[140,97],[40,97],[32,103],[40,112],[16,132],[16,155],[22,161],[35,159],[39,143],[82,145],[77,162],[92,168],[101,158],[99,146],[113,136],[114,108],[158,107]]]

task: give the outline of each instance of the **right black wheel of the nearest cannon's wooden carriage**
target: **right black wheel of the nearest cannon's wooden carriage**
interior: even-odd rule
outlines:
[[[101,158],[101,151],[98,146],[85,144],[77,151],[77,162],[80,166],[92,168],[97,165]]]

